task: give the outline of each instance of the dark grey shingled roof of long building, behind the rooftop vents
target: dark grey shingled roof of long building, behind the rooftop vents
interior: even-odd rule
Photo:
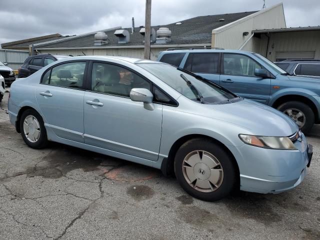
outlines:
[[[174,23],[167,25],[152,26],[156,31],[159,27],[168,27],[171,30],[171,42],[169,44],[199,44],[199,43],[211,43],[212,29],[223,26],[237,19],[250,15],[256,11],[227,13],[218,15],[197,16],[186,20],[181,20],[181,24],[176,25]],[[224,19],[221,21],[220,19]],[[102,30],[108,35],[108,44],[102,45],[102,47],[108,46],[142,46],[144,43],[142,40],[144,37],[139,33],[140,28],[135,27],[134,32],[130,34],[129,42],[119,44],[118,38],[113,34],[115,29],[121,29],[121,27]],[[131,33],[131,28],[124,28]],[[78,36],[65,37],[63,39],[57,39],[49,42],[41,42],[35,44],[35,48],[59,48],[59,47],[93,47],[94,34],[90,32]],[[161,45],[154,44],[152,45]],[[96,46],[95,46],[96,47]]]

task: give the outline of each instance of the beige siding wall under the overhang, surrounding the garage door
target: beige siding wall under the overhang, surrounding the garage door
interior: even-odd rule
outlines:
[[[292,31],[270,33],[268,59],[275,61],[276,52],[314,52],[320,59],[320,31]]]

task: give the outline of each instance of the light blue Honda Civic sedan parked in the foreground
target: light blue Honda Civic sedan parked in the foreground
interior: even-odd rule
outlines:
[[[8,111],[30,147],[56,141],[155,167],[208,201],[291,189],[312,156],[280,111],[150,60],[55,61],[12,83]]]

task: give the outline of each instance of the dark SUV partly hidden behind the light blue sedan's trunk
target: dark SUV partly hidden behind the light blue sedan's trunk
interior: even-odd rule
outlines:
[[[52,55],[49,53],[40,53],[29,56],[25,59],[22,66],[18,68],[18,77],[27,77],[53,61],[70,56],[72,55]]]

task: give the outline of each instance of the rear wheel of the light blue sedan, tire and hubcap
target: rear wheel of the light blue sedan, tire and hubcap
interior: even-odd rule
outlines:
[[[47,144],[42,117],[33,109],[25,110],[20,117],[20,129],[24,142],[32,148],[43,148]]]

